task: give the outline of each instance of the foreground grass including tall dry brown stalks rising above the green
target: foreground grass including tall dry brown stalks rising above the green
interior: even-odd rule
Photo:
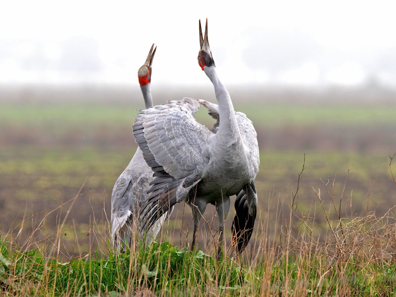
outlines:
[[[301,216],[304,170],[303,165],[297,187],[290,188],[285,204],[278,202],[275,219],[268,215],[256,221],[252,253],[247,249],[238,257],[226,244],[225,256],[215,261],[216,235],[205,251],[178,248],[160,238],[150,245],[138,241],[126,253],[117,253],[110,245],[108,222],[94,219],[93,233],[101,245],[71,257],[62,245],[67,216],[53,234],[42,234],[44,218],[34,220],[26,239],[21,236],[22,223],[0,238],[0,287],[12,296],[143,296],[138,295],[143,288],[155,296],[394,296],[393,208],[380,215],[367,211],[356,216],[351,205],[348,214],[341,209],[350,202],[343,200],[344,190],[337,192],[332,182],[322,188],[331,208],[323,206],[324,197],[317,190],[322,210]],[[347,177],[344,188],[346,184]],[[67,202],[69,210],[76,198]],[[316,238],[320,216],[328,228],[322,238]],[[271,233],[271,228],[278,231]]]

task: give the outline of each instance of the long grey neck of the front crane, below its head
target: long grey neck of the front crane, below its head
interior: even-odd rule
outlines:
[[[220,124],[219,131],[217,131],[216,135],[219,135],[219,137],[225,136],[225,139],[229,139],[232,143],[235,143],[240,139],[240,131],[236,122],[235,110],[230,94],[217,77],[215,67],[205,67],[204,71],[215,88],[217,103],[219,103]]]

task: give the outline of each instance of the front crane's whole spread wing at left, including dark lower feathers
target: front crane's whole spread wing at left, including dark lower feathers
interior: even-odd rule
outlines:
[[[133,136],[154,171],[147,203],[141,211],[141,230],[148,230],[202,178],[209,163],[214,135],[194,115],[199,104],[191,98],[168,101],[139,110]]]

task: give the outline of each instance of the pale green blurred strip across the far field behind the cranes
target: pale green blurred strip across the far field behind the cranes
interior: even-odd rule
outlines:
[[[48,123],[56,127],[106,124],[130,125],[142,108],[136,103],[1,103],[0,124]],[[396,105],[331,104],[331,103],[234,103],[235,110],[245,112],[257,128],[288,125],[332,124],[337,126],[395,126]],[[205,112],[199,121],[208,122]]]

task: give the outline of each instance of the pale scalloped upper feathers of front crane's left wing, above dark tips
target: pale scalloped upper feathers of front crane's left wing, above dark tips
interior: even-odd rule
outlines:
[[[162,167],[175,179],[204,172],[209,156],[203,151],[208,151],[204,148],[213,133],[195,120],[198,107],[194,99],[184,98],[140,110],[133,135],[145,153],[145,160],[151,161],[148,166]]]

